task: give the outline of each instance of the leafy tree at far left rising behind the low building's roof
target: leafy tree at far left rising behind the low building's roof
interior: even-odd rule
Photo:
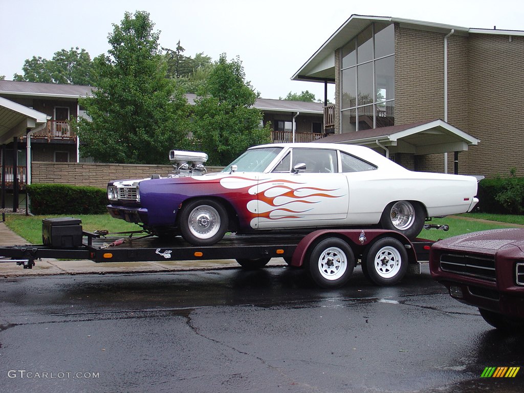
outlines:
[[[15,74],[15,81],[91,85],[93,63],[85,49],[62,49],[51,60],[33,56],[24,62],[24,75]]]

